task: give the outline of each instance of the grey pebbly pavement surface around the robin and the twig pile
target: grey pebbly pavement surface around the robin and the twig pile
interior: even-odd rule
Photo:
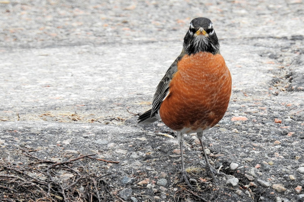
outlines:
[[[0,1],[0,163],[8,167],[0,169],[0,200],[39,201],[22,183],[9,187],[4,175],[38,176],[48,163],[92,153],[109,162],[73,164],[99,179],[92,201],[303,201],[303,3]],[[136,119],[199,16],[214,24],[233,91],[204,139],[217,186],[201,169],[195,134],[185,136],[192,191],[178,183],[174,131]],[[53,181],[39,179],[79,180],[79,197],[95,185],[54,168]],[[16,187],[26,194],[9,195]],[[69,201],[53,194],[50,201]]]

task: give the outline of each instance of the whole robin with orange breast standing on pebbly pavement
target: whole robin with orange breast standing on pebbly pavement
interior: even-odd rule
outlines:
[[[184,134],[196,133],[206,160],[203,132],[215,126],[227,111],[231,96],[230,71],[219,51],[219,41],[208,18],[194,18],[184,37],[181,54],[157,85],[152,107],[138,117],[138,124],[159,119],[176,131],[181,151],[181,180],[192,188],[183,157]]]

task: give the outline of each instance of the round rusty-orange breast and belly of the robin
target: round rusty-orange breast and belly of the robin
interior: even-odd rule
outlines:
[[[230,95],[231,75],[220,54],[185,55],[160,107],[164,124],[175,131],[194,133],[217,124],[224,116]]]

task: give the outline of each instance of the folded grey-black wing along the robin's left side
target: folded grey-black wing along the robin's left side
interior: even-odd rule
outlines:
[[[175,72],[177,72],[177,63],[179,60],[181,60],[182,57],[184,57],[185,51],[184,49],[181,51],[181,54],[175,59],[175,61],[172,63],[172,65],[167,70],[164,77],[161,79],[159,84],[156,87],[156,92],[153,96],[152,100],[152,111],[151,111],[151,118],[154,117],[156,113],[158,113],[159,108],[161,107],[161,102],[164,100],[164,98],[169,93],[169,84],[173,78],[173,75]]]

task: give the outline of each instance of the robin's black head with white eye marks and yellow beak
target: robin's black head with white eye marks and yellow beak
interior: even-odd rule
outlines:
[[[183,44],[186,54],[198,52],[219,53],[219,41],[208,18],[194,18],[184,38]]]

